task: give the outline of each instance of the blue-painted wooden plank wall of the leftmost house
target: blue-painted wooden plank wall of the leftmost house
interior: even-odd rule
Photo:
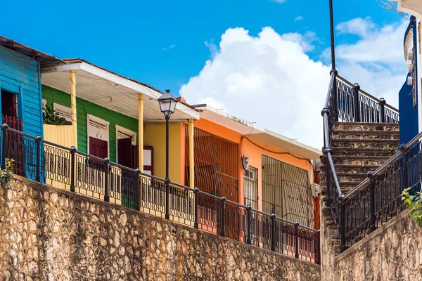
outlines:
[[[0,46],[0,88],[17,94],[18,117],[23,119],[24,133],[44,136],[39,63]]]

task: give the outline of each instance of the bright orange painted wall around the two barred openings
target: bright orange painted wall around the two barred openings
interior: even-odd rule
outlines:
[[[228,141],[232,141],[234,143],[239,144],[240,151],[239,151],[238,161],[239,162],[241,161],[242,156],[248,156],[250,166],[253,166],[258,169],[258,209],[260,210],[262,209],[262,155],[263,154],[309,171],[309,180],[311,181],[311,183],[313,183],[314,176],[313,176],[312,165],[309,164],[307,160],[298,159],[296,157],[293,157],[292,155],[281,154],[286,151],[280,150],[279,148],[274,148],[271,145],[266,145],[265,143],[261,143],[260,141],[253,140],[254,143],[257,143],[257,145],[260,145],[261,147],[266,148],[267,150],[279,152],[279,153],[268,152],[262,148],[259,148],[257,145],[250,143],[244,138],[242,140],[241,133],[232,131],[231,129],[228,129],[214,122],[210,122],[206,119],[196,120],[195,127],[198,129],[207,131],[209,133],[212,133],[221,138],[225,138]],[[245,198],[244,198],[244,189],[243,189],[243,169],[240,164],[239,164],[238,172],[239,172],[238,174],[238,178],[239,178],[238,202],[240,204],[244,204]]]

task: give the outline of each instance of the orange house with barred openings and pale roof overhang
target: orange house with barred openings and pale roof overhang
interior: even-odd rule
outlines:
[[[312,163],[320,150],[209,105],[193,107],[200,111],[200,119],[191,128],[193,150],[185,124],[185,185],[304,226],[319,225]]]

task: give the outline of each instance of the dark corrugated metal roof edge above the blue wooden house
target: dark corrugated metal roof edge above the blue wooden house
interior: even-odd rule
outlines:
[[[0,36],[0,46],[4,46],[5,48],[9,48],[17,53],[22,53],[23,55],[27,55],[28,57],[39,61],[42,64],[41,67],[65,64],[63,60],[60,60],[53,55],[38,51],[37,49],[18,43],[17,41],[6,37]]]

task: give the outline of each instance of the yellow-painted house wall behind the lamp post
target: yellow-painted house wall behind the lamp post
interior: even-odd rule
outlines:
[[[180,122],[169,127],[169,177],[175,183],[184,183],[184,127]],[[154,148],[154,176],[165,178],[165,123],[144,124],[143,144]]]

